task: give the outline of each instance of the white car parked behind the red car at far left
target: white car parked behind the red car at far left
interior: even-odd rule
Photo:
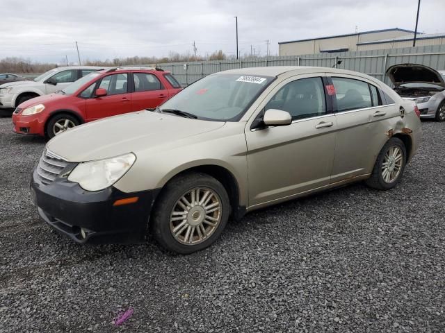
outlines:
[[[92,71],[104,68],[96,66],[57,67],[32,81],[5,83],[0,85],[0,109],[17,108],[24,101],[56,92]]]

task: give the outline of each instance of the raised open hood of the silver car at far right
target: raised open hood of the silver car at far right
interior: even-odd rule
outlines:
[[[403,83],[432,83],[445,87],[444,78],[438,71],[417,64],[399,64],[387,69],[387,76],[395,87]]]

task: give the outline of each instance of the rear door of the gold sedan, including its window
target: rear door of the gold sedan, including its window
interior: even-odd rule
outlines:
[[[332,74],[337,145],[331,182],[371,173],[387,132],[400,111],[383,105],[378,87],[359,76]]]

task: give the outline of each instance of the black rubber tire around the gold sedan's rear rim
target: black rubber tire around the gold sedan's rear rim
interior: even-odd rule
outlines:
[[[403,157],[401,159],[400,172],[398,173],[396,178],[394,178],[393,181],[387,182],[383,178],[382,167],[383,167],[383,162],[385,161],[385,155],[392,147],[400,148]],[[385,146],[383,146],[382,150],[378,154],[377,160],[375,160],[371,178],[365,181],[366,185],[372,187],[373,189],[380,189],[380,190],[387,190],[394,188],[403,176],[403,171],[405,170],[406,158],[407,158],[406,148],[405,144],[403,144],[403,141],[401,139],[398,139],[397,137],[391,137],[391,139],[387,141]]]

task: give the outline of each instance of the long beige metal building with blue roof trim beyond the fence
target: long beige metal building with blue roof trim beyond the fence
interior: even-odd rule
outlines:
[[[375,49],[396,49],[412,46],[414,31],[391,28],[347,35],[318,37],[306,40],[279,42],[280,56],[367,51]],[[417,33],[416,46],[443,45],[445,33],[426,35]]]

